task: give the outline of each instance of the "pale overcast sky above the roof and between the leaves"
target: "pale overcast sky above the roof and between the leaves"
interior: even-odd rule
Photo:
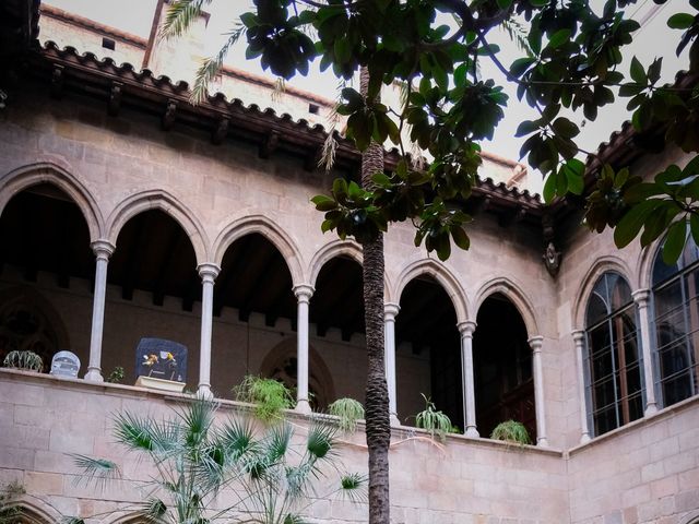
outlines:
[[[67,11],[81,14],[106,25],[118,27],[122,31],[149,37],[153,10],[156,0],[45,0],[46,3],[64,9]],[[601,8],[602,0],[591,0],[593,8]],[[223,41],[226,33],[235,23],[237,16],[250,10],[250,0],[212,0],[210,7],[205,8],[211,13],[206,31],[205,49],[210,55],[215,53]],[[625,60],[620,66],[624,73],[628,73],[631,57],[636,56],[645,67],[656,57],[663,57],[663,78],[665,82],[672,82],[674,74],[679,69],[688,67],[688,58],[685,53],[679,58],[675,56],[675,47],[682,34],[678,31],[667,28],[667,19],[679,11],[692,12],[688,0],[668,0],[664,5],[656,5],[652,0],[640,0],[636,5],[628,8],[628,13],[641,23],[641,28],[633,35],[633,44],[626,49]],[[489,40],[501,47],[500,60],[506,66],[521,56],[517,47],[509,37],[501,31],[497,31]],[[245,43],[240,41],[228,55],[227,63],[237,69],[262,74],[273,79],[274,76],[262,71],[259,62],[245,59]],[[514,131],[524,119],[535,119],[537,114],[519,103],[516,96],[516,86],[509,84],[505,76],[488,60],[484,60],[481,66],[484,78],[493,78],[497,84],[505,86],[510,99],[506,109],[506,117],[498,126],[496,134],[490,142],[483,144],[484,150],[496,153],[500,156],[519,159],[520,146],[524,139],[514,136]],[[316,68],[311,69],[308,76],[296,75],[286,82],[287,86],[295,86],[330,99],[337,96],[339,81],[332,74],[320,73]],[[577,141],[581,148],[595,151],[600,143],[607,141],[609,134],[620,129],[621,123],[630,118],[626,110],[628,99],[621,99],[612,106],[607,105],[600,109],[599,117],[594,122],[583,122],[583,117],[571,116],[570,118],[583,127]],[[525,163],[525,159],[523,160]],[[533,174],[532,189],[541,189],[541,176]]]

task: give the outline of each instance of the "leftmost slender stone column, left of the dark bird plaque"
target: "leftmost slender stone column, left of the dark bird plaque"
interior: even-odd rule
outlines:
[[[107,264],[115,247],[107,240],[96,240],[90,245],[95,253],[95,294],[92,301],[92,331],[90,333],[90,364],[85,380],[103,382],[102,334],[105,324],[105,298],[107,293]]]

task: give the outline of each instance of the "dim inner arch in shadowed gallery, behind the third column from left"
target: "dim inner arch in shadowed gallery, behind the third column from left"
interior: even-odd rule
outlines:
[[[291,359],[296,358],[296,338],[286,338],[274,346],[260,365],[262,377],[274,377],[275,370],[283,367]],[[312,347],[308,347],[308,382],[309,389],[317,395],[319,405],[327,406],[335,400],[335,388],[332,373],[320,354]]]

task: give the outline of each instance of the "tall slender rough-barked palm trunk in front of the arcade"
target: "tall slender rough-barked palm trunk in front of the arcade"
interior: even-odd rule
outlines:
[[[369,73],[360,73],[362,95],[368,92]],[[362,155],[362,186],[383,171],[383,146],[371,141]],[[369,449],[369,524],[389,524],[389,444],[391,422],[383,361],[383,235],[363,245],[364,315],[367,340],[366,433]]]

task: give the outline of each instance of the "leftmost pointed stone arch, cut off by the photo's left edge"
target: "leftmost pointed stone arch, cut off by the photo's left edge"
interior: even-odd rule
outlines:
[[[0,214],[12,196],[39,183],[57,187],[75,202],[87,223],[91,241],[103,238],[105,222],[92,192],[78,176],[50,162],[19,167],[0,179]]]

